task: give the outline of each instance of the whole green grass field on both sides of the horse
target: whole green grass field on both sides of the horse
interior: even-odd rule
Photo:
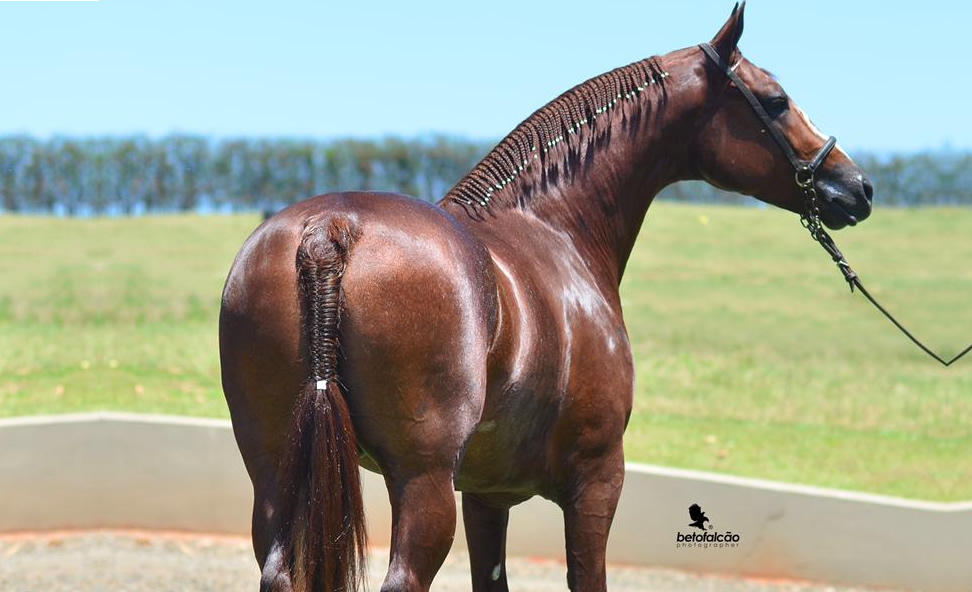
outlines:
[[[0,217],[0,415],[226,417],[216,320],[255,216]],[[972,211],[878,210],[836,238],[951,354],[972,340]],[[656,204],[623,286],[637,363],[628,459],[972,499],[972,358],[942,369],[795,216]]]

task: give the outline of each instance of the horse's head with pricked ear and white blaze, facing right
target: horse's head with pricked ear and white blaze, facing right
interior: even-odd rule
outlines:
[[[742,56],[736,45],[744,8],[745,3],[733,9],[709,44],[714,51],[700,47],[698,52],[705,99],[690,155],[696,174],[717,187],[798,214],[807,209],[798,180],[806,183],[809,177],[824,224],[834,229],[857,224],[871,213],[870,181],[840,148],[824,155],[821,149],[828,138],[770,73]],[[738,78],[734,80],[733,74]],[[740,82],[752,97],[746,96]],[[763,114],[758,113],[759,106]],[[796,166],[806,166],[818,154],[823,160],[812,174],[796,173]]]

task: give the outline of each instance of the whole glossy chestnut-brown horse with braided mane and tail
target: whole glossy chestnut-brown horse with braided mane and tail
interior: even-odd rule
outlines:
[[[860,168],[740,53],[743,12],[709,44],[567,91],[437,205],[321,195],[247,239],[220,356],[261,590],[358,587],[359,464],[384,476],[392,506],[383,591],[429,589],[453,491],[474,591],[508,589],[509,509],[536,495],[563,509],[570,589],[605,590],[633,397],[618,288],[653,197],[703,179],[803,213],[783,141],[817,155],[826,226],[870,213]]]

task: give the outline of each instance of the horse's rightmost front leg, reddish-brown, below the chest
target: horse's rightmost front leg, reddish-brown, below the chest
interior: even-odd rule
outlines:
[[[561,501],[567,538],[567,585],[572,592],[607,590],[608,532],[624,482],[624,454],[591,460],[575,471],[574,484]]]

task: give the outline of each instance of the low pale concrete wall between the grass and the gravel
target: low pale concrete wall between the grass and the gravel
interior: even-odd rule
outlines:
[[[364,473],[371,540],[387,545],[381,478]],[[243,534],[250,483],[229,422],[99,413],[0,421],[0,532],[144,528]],[[736,548],[682,548],[688,506]],[[457,545],[464,545],[460,532]],[[563,560],[559,509],[514,508],[511,554]],[[609,561],[696,572],[972,590],[972,503],[936,504],[629,465]]]

